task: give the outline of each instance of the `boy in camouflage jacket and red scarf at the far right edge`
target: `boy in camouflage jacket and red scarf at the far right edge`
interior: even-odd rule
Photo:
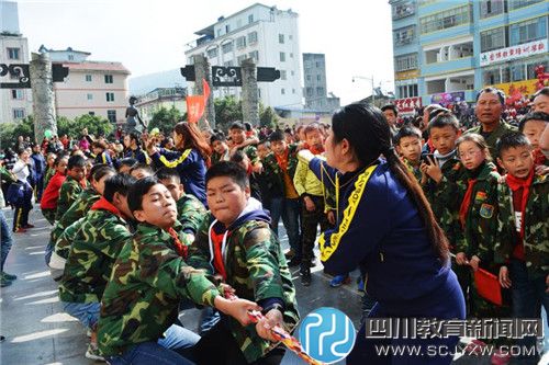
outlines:
[[[507,171],[498,185],[496,261],[500,283],[511,288],[513,317],[540,318],[549,312],[549,181],[535,173],[535,158],[527,138],[519,133],[503,135],[496,145],[497,162]],[[518,340],[533,349],[536,339]],[[530,354],[537,363],[537,354]]]

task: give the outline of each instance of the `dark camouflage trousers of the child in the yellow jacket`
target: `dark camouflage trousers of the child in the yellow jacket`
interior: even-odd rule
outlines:
[[[311,262],[314,258],[314,241],[316,240],[316,228],[321,225],[321,231],[329,228],[328,218],[324,213],[324,197],[311,196],[315,209],[309,212],[305,208],[305,203],[302,202],[302,219],[301,219],[301,241],[302,241],[302,260],[301,267],[311,267]]]

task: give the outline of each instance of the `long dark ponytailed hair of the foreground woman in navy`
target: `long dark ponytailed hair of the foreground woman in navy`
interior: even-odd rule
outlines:
[[[425,224],[434,252],[448,260],[448,239],[438,226],[419,183],[396,156],[391,144],[391,130],[383,113],[376,106],[354,103],[336,111],[332,117],[334,144],[347,139],[362,167],[373,163],[380,155],[386,159],[391,172],[407,190]]]

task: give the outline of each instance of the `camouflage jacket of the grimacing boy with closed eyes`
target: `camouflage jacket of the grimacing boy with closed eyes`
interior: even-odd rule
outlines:
[[[177,321],[182,298],[213,307],[219,295],[203,271],[177,254],[168,232],[139,224],[120,252],[103,294],[99,349],[107,356],[119,355],[134,344],[156,342]]]

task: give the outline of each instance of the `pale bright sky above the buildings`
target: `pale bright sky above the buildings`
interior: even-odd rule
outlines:
[[[121,61],[132,76],[184,65],[194,32],[245,9],[248,0],[18,0],[20,31],[32,52],[72,47],[92,60]],[[326,54],[327,89],[341,103],[371,94],[371,77],[392,90],[391,8],[388,0],[277,0],[298,12],[302,53]],[[264,65],[268,66],[268,65]]]

